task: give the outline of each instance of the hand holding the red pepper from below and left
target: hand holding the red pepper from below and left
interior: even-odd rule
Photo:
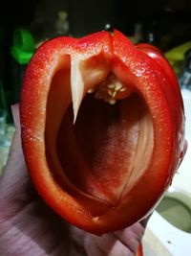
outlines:
[[[61,219],[39,197],[23,156],[18,109],[18,105],[12,106],[16,130],[0,177],[0,255],[135,255],[146,221],[98,237]]]

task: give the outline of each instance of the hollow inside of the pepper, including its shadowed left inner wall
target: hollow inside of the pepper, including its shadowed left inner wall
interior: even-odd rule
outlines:
[[[48,164],[70,193],[112,206],[123,202],[146,172],[153,152],[153,124],[138,92],[110,105],[86,93],[74,123],[70,69],[58,70],[47,105]]]

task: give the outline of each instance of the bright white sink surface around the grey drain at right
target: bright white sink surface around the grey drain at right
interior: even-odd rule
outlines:
[[[185,107],[185,137],[188,142],[188,149],[178,174],[173,179],[172,186],[180,188],[182,192],[184,191],[186,195],[190,196],[191,200],[191,91],[182,90],[181,93]],[[191,234],[183,232],[165,221],[158,212],[154,212],[148,222],[145,232],[145,246],[147,244],[150,244],[150,251],[145,253],[145,256],[191,255]]]

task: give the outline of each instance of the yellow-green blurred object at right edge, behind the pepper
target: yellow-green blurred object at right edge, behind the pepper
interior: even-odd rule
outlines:
[[[185,53],[191,49],[191,41],[187,41],[171,50],[166,52],[164,55],[170,61],[173,66],[175,73],[180,75],[182,65],[185,58]]]

